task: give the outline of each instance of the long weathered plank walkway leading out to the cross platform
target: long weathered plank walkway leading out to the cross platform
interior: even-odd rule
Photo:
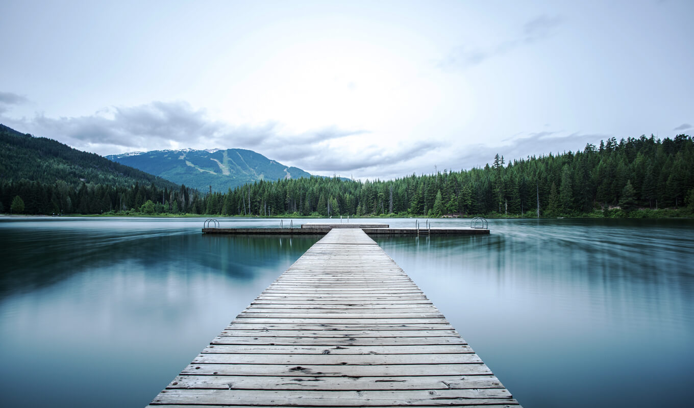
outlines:
[[[333,229],[151,402],[156,407],[519,407],[361,229]]]

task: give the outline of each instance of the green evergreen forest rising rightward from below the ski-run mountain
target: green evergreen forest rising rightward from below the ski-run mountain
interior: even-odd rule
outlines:
[[[206,198],[208,214],[639,216],[637,208],[694,207],[691,137],[622,139],[484,169],[389,181],[310,178],[256,182]],[[652,216],[653,212],[641,212]]]

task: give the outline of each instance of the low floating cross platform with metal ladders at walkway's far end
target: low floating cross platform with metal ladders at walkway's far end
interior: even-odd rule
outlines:
[[[484,235],[489,228],[391,228],[382,223],[305,223],[301,228],[203,228],[205,234],[233,235],[316,235],[327,234],[333,229],[357,228],[368,235]]]

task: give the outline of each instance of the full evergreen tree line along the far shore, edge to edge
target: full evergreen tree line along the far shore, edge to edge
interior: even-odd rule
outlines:
[[[227,192],[3,180],[0,213],[219,216],[670,217],[694,214],[694,142],[612,137],[583,151],[396,180],[297,178]]]

